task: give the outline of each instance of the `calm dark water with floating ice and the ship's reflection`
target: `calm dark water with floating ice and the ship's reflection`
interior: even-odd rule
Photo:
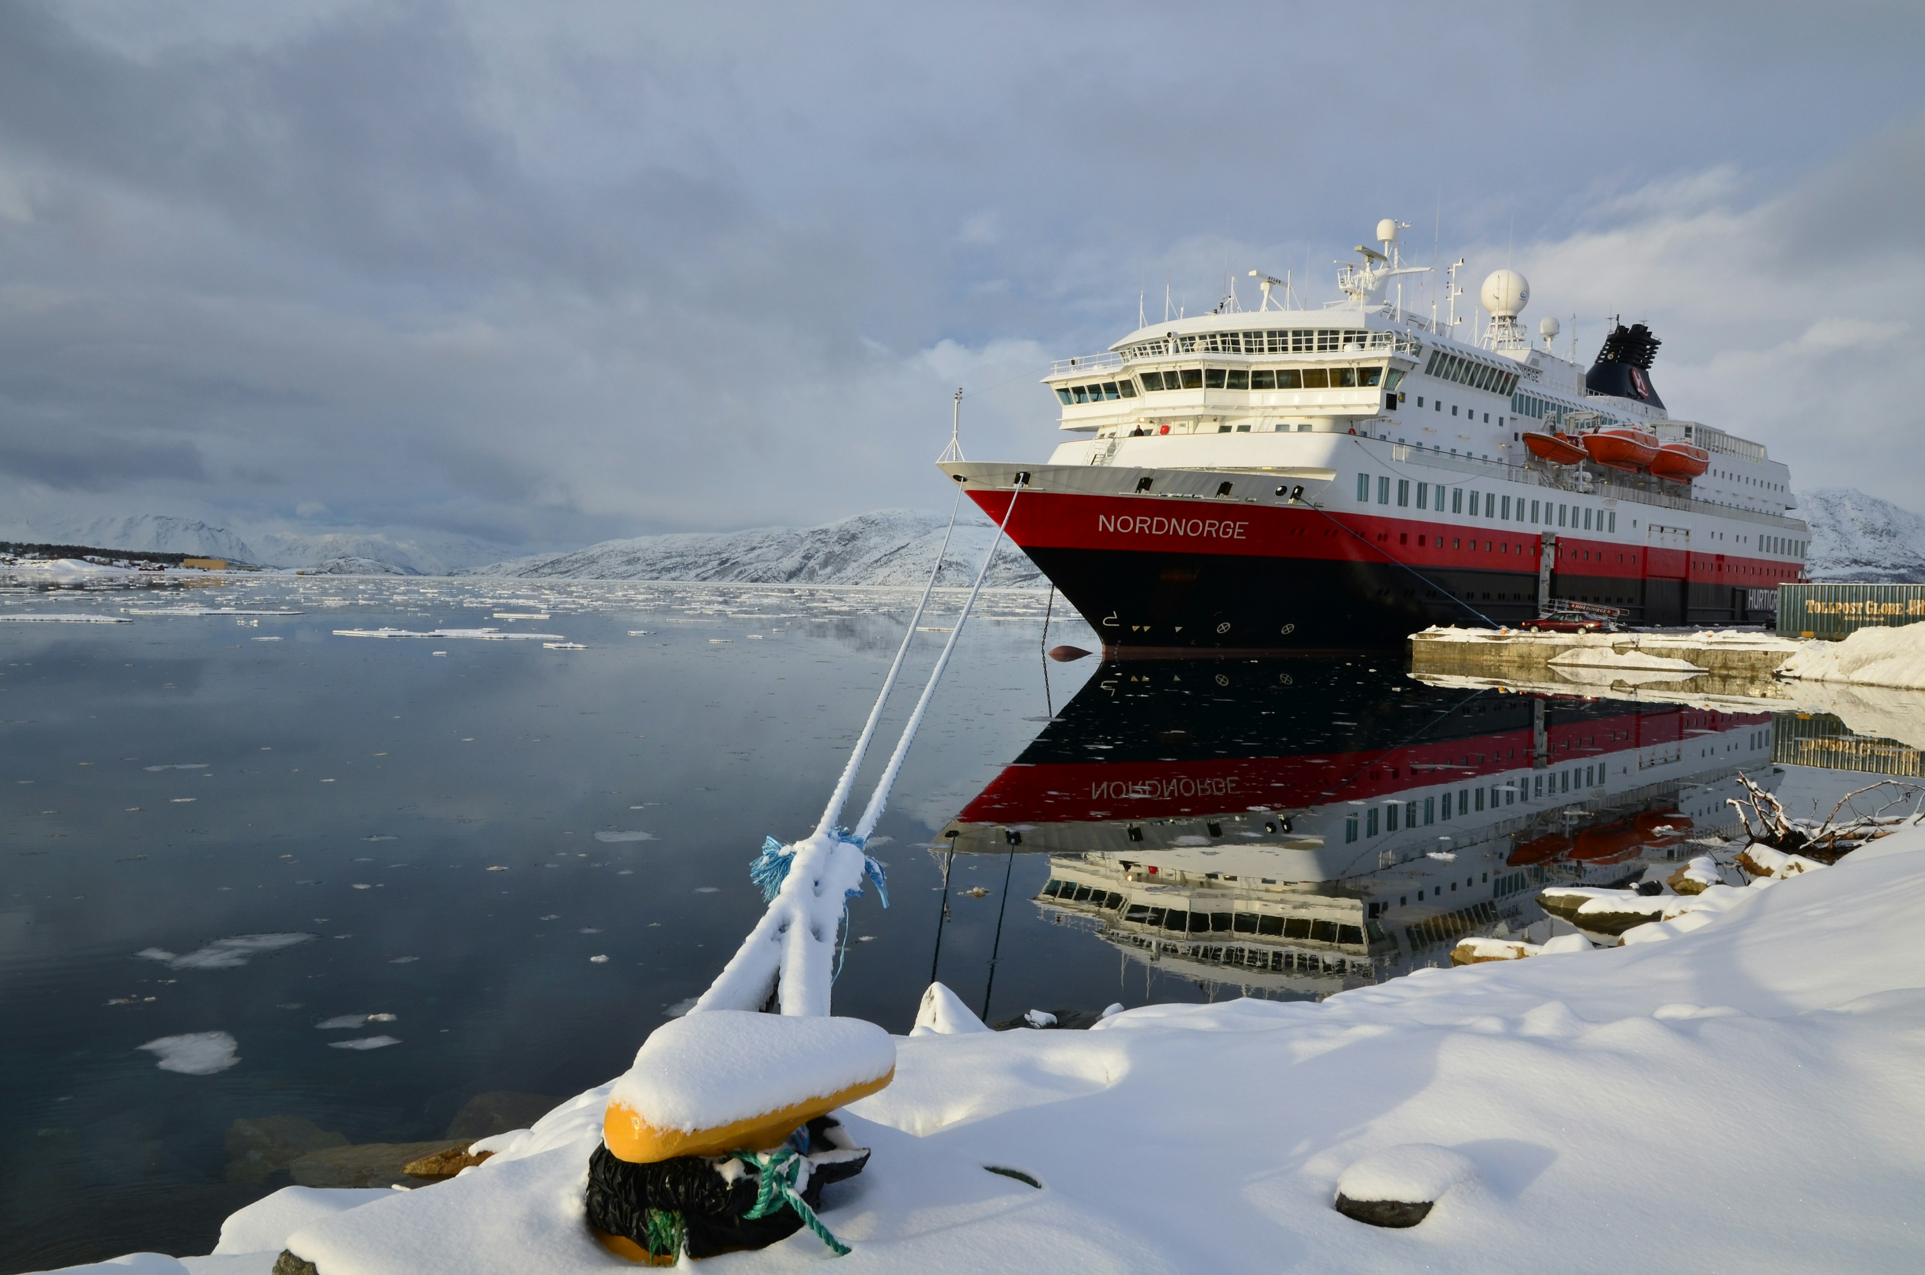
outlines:
[[[0,1269],[206,1252],[285,1181],[227,1181],[237,1119],[425,1140],[475,1094],[560,1098],[624,1069],[755,923],[747,863],[814,822],[912,601],[325,578],[0,595],[0,614],[131,620],[0,622]],[[1503,884],[1532,836],[1709,811],[1721,774],[1771,759],[1769,716],[1532,716],[1544,701],[1417,686],[1380,657],[1045,668],[1041,622],[1041,595],[988,595],[964,634],[874,844],[893,907],[851,905],[839,1013],[909,1028],[945,898],[932,846],[964,851],[941,978],[984,1009],[993,953],[991,1021],[1321,996],[1536,923]],[[383,626],[585,649],[335,632]],[[911,690],[943,638],[924,634]],[[1095,645],[1061,611],[1057,641]],[[1630,753],[1598,740],[1621,728],[1704,751],[1605,792]],[[1598,780],[1590,822],[1528,778],[1517,805],[1519,740],[1553,749],[1553,784]],[[1461,811],[1426,819],[1440,780]],[[1390,807],[1401,824],[1363,822]],[[1532,882],[1598,871],[1630,869]],[[1063,888],[1078,872],[1082,899]],[[1255,913],[1242,934],[1211,890],[1267,899],[1276,934]],[[141,1050],[196,1032],[231,1036],[235,1061],[183,1073]]]

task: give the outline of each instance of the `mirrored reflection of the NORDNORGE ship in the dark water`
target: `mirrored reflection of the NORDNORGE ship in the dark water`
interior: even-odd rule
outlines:
[[[1773,788],[1771,715],[1440,688],[1365,663],[1099,670],[943,830],[1047,853],[1038,903],[1203,984],[1326,996],[1546,938],[1548,884],[1615,886]],[[1561,923],[1555,923],[1561,924]],[[1563,932],[1569,932],[1565,926]]]

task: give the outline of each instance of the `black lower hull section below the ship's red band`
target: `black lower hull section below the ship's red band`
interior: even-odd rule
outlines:
[[[1430,624],[1538,614],[1530,572],[1413,572],[1392,562],[1030,549],[1111,651],[1315,653],[1401,649]],[[1744,589],[1555,574],[1552,595],[1627,607],[1650,624],[1742,624]]]

